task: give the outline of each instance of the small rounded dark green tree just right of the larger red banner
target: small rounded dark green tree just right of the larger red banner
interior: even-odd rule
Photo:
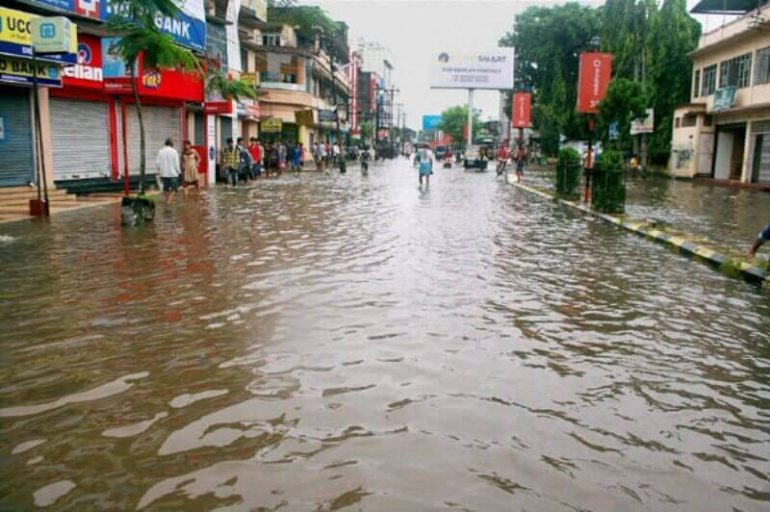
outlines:
[[[619,138],[616,145],[621,150],[630,148],[631,121],[644,117],[647,104],[647,95],[641,83],[626,78],[613,79],[607,87],[607,94],[599,103],[597,128],[600,138],[606,143],[609,125],[617,122]]]

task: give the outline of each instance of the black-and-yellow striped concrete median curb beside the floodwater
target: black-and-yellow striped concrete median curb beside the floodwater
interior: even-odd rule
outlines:
[[[638,219],[630,219],[626,216],[610,215],[606,213],[600,213],[593,211],[589,206],[575,201],[568,201],[566,199],[559,199],[555,194],[539,190],[521,183],[516,183],[516,179],[512,176],[508,177],[508,183],[516,188],[527,191],[531,194],[548,199],[549,201],[558,201],[559,203],[568,206],[574,210],[590,215],[594,218],[604,220],[610,224],[618,226],[630,231],[636,235],[642,236],[648,240],[652,240],[659,244],[665,245],[671,249],[674,249],[679,254],[690,256],[698,261],[707,263],[710,266],[718,269],[725,269],[726,274],[737,273],[746,281],[752,283],[763,284],[766,288],[770,288],[770,276],[768,272],[754,265],[750,265],[745,261],[736,260],[730,256],[705,246],[702,243],[695,240],[695,237],[688,235],[675,235],[666,233],[649,223]],[[729,272],[733,270],[734,272]]]

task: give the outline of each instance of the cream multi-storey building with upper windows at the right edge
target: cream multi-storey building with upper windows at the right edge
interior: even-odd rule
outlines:
[[[690,57],[691,101],[675,111],[672,175],[770,185],[770,5],[703,34]]]

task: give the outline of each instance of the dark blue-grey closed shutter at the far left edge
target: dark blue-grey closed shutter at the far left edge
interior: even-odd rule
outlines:
[[[30,90],[0,87],[0,187],[35,181]]]

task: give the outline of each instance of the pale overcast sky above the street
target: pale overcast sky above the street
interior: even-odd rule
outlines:
[[[688,0],[691,8],[697,0]],[[440,114],[445,108],[464,104],[467,91],[430,88],[430,63],[439,50],[496,48],[513,26],[517,13],[530,5],[553,5],[550,0],[300,0],[322,6],[332,18],[350,28],[350,45],[359,39],[380,43],[393,53],[394,82],[403,103],[407,126],[420,128],[424,114]],[[603,0],[579,0],[597,7]],[[718,18],[718,19],[716,19]],[[701,17],[715,28],[721,17]],[[704,26],[704,28],[707,28]],[[499,93],[477,91],[474,106],[482,119],[497,119]]]

